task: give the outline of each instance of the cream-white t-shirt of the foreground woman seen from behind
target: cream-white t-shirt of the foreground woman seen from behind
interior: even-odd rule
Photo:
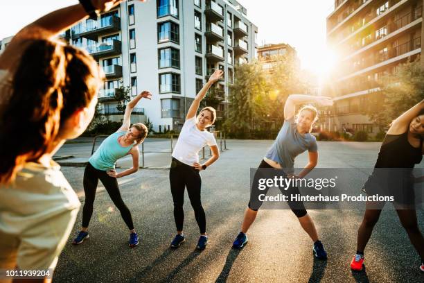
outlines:
[[[60,166],[28,162],[0,196],[0,268],[55,268],[81,205]]]

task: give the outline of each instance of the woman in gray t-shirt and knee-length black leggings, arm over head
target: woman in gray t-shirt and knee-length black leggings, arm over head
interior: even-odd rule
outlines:
[[[296,105],[305,103],[319,103],[321,105],[333,105],[331,98],[325,96],[308,96],[301,94],[292,94],[285,101],[284,105],[284,123],[279,134],[272,144],[270,150],[267,152],[263,160],[259,164],[258,169],[281,169],[283,175],[290,178],[303,178],[317,165],[318,161],[318,148],[317,141],[314,136],[310,134],[313,123],[317,121],[317,109],[313,106],[306,105],[299,110],[297,117],[295,117]],[[305,168],[299,173],[294,175],[294,158],[297,155],[308,150],[309,162]],[[258,183],[261,177],[260,170],[256,171],[254,175],[253,184]],[[267,189],[260,191],[260,194],[267,193]],[[289,194],[299,194],[297,187],[290,187],[287,191]],[[246,232],[249,230],[250,225],[255,221],[256,214],[262,202],[258,199],[258,190],[251,190],[251,197],[249,205],[245,211],[245,218],[243,219],[241,231],[233,243],[234,248],[242,248],[247,243]],[[299,222],[312,241],[314,242],[315,257],[326,259],[327,254],[319,241],[317,230],[310,218],[308,212],[302,202],[289,201],[288,205],[292,212],[297,216]]]

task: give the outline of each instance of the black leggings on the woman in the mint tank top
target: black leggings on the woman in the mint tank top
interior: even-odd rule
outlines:
[[[94,198],[96,197],[98,179],[100,179],[105,186],[107,194],[109,194],[110,198],[112,198],[114,205],[118,207],[128,229],[133,230],[134,224],[132,223],[131,212],[121,198],[118,181],[116,178],[107,175],[106,171],[94,168],[90,163],[85,166],[84,171],[85,203],[84,208],[82,209],[82,227],[88,227],[91,215],[93,214],[93,203]]]

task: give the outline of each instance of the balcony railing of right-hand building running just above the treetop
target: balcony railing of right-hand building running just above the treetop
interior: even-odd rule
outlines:
[[[371,55],[366,56],[362,60],[362,62],[354,63],[352,69],[348,69],[347,71],[345,71],[344,75],[371,67],[381,62],[385,62],[391,58],[396,58],[400,55],[403,55],[410,51],[414,51],[419,48],[421,48],[421,37],[416,37],[414,38],[414,40],[405,42],[404,44],[400,44],[392,49],[387,49],[386,52],[373,53]]]

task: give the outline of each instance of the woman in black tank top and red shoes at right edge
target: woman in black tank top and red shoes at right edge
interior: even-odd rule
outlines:
[[[414,208],[415,164],[423,159],[424,101],[407,110],[394,120],[382,142],[373,174],[364,185],[368,195],[385,194],[394,197],[394,207],[409,240],[424,262],[424,239],[418,229]],[[351,261],[353,271],[362,271],[364,249],[384,203],[366,203],[364,219],[357,232],[357,252]],[[424,264],[420,266],[424,271]]]

